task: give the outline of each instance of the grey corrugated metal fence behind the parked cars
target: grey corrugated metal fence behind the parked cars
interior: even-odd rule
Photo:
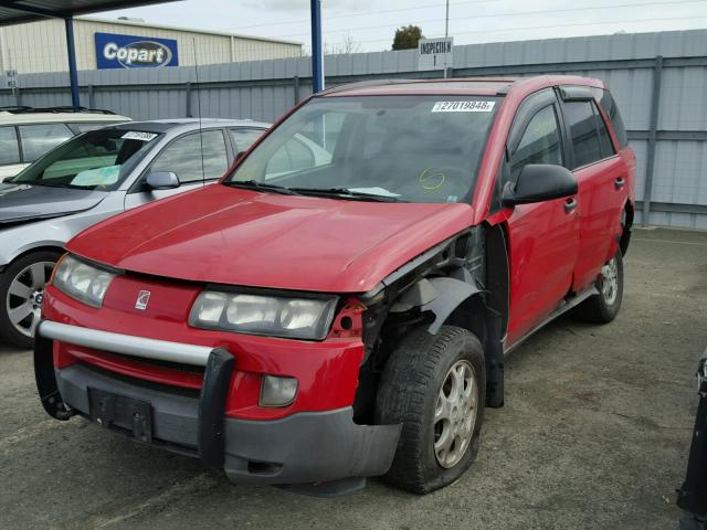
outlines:
[[[331,55],[327,84],[416,72],[416,51]],[[455,46],[450,75],[563,73],[603,80],[639,158],[637,222],[707,229],[707,30]],[[82,103],[134,119],[196,116],[273,121],[312,92],[307,57],[80,73]],[[198,81],[197,81],[198,77]],[[67,75],[20,75],[0,105],[70,105]],[[0,86],[7,86],[4,81]]]

